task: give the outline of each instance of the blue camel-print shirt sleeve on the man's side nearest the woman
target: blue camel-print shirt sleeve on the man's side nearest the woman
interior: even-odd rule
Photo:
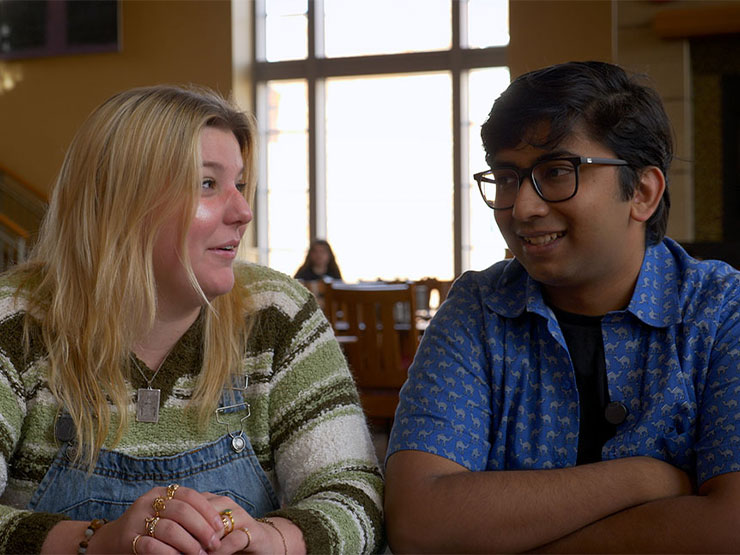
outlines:
[[[401,390],[388,456],[410,449],[485,470],[491,445],[489,344],[472,274],[463,274],[424,332]]]

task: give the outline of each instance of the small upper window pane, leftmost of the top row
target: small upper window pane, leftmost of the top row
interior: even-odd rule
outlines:
[[[308,55],[307,0],[265,0],[265,58],[302,60]]]

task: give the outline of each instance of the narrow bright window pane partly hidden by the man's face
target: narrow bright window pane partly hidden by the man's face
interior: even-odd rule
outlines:
[[[468,74],[468,109],[470,153],[470,266],[482,270],[504,258],[506,242],[498,230],[493,210],[483,203],[474,172],[487,168],[480,138],[480,126],[488,118],[493,101],[509,86],[509,68],[494,67],[470,71]]]

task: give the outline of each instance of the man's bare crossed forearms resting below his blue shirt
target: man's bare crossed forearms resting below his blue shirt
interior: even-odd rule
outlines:
[[[740,473],[694,493],[684,472],[649,457],[469,472],[399,451],[388,460],[385,508],[394,553],[740,549]]]

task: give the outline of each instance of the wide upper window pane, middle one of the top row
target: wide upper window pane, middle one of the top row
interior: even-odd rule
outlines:
[[[326,56],[447,50],[450,0],[325,0]]]

